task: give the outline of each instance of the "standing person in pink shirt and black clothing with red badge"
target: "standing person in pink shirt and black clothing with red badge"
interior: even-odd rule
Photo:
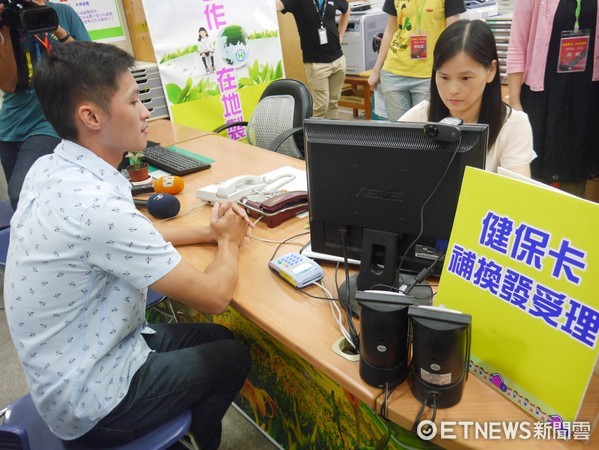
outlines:
[[[539,155],[533,176],[579,196],[599,174],[598,5],[518,0],[507,54],[509,102],[528,114]]]

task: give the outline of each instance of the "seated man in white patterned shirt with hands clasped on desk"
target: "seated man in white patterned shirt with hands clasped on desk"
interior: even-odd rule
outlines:
[[[216,449],[249,352],[219,325],[149,328],[146,293],[222,313],[249,219],[231,204],[215,205],[206,227],[153,224],[137,211],[116,169],[148,134],[133,64],[115,46],[73,42],[36,71],[62,141],[32,166],[11,221],[8,324],[33,401],[60,438],[122,444],[191,409],[198,443]],[[217,244],[204,272],[174,247],[194,243]]]

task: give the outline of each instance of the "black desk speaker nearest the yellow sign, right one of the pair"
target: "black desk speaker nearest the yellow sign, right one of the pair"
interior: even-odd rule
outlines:
[[[438,408],[449,408],[461,400],[468,378],[472,317],[426,306],[410,306],[408,315],[412,393],[422,403],[434,397]]]

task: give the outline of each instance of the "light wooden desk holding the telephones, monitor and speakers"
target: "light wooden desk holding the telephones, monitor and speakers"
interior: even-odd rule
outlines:
[[[151,131],[151,139],[160,141],[158,130]],[[212,167],[206,171],[188,175],[185,177],[185,190],[179,194],[182,203],[180,217],[177,222],[188,224],[208,222],[209,207],[202,206],[195,198],[195,191],[206,184],[216,183],[229,177],[240,174],[262,174],[284,165],[304,168],[304,162],[275,154],[267,150],[241,144],[227,138],[204,135],[197,139],[178,143],[186,150],[194,151],[215,160]],[[197,210],[190,214],[185,212]],[[167,222],[169,223],[169,222]],[[174,223],[171,221],[170,223]],[[293,218],[284,222],[276,228],[267,228],[264,224],[258,224],[253,235],[271,240],[283,240],[292,235],[305,231],[304,225],[307,219]],[[298,239],[299,242],[307,242],[309,236]],[[371,410],[377,411],[380,407],[379,397],[381,391],[364,383],[358,372],[358,363],[347,361],[331,350],[331,344],[340,337],[329,305],[326,301],[310,299],[299,291],[293,289],[285,281],[268,270],[267,262],[275,251],[276,245],[261,241],[246,239],[240,252],[240,280],[232,303],[233,309],[243,318],[250,321],[263,330],[266,335],[281,344],[275,346],[267,358],[272,360],[273,365],[280,364],[281,348],[288,349],[308,363],[301,370],[302,380],[314,383],[316,379],[324,374],[342,387],[342,392],[355,396]],[[298,247],[284,246],[278,254],[297,251]],[[212,246],[185,246],[180,247],[181,254],[196,265],[205,268],[211,261],[215,249]],[[330,290],[334,290],[334,270],[332,266],[326,266],[326,277],[324,284]],[[317,287],[307,289],[313,295],[322,295]],[[308,380],[308,381],[306,381]],[[277,378],[276,383],[286,384],[293,391],[294,384],[286,378]],[[294,381],[295,383],[295,381]],[[599,376],[594,375],[591,390],[594,399],[583,408],[580,420],[590,421],[593,424],[599,417]],[[333,392],[333,391],[331,391]],[[264,396],[266,398],[266,396]],[[351,397],[350,397],[351,398]],[[339,397],[333,401],[340,402]],[[341,399],[342,400],[342,399]],[[309,402],[309,398],[298,401]],[[347,401],[347,400],[346,400]],[[272,408],[281,407],[275,401]],[[262,405],[269,413],[269,402]],[[318,405],[317,405],[318,406]],[[322,405],[323,408],[325,405]],[[412,396],[407,382],[400,385],[391,398],[389,404],[389,418],[400,426],[410,429],[418,413],[420,403]],[[328,411],[328,409],[327,409]],[[315,419],[316,420],[316,419]],[[344,417],[344,420],[352,420],[352,417]],[[472,420],[481,422],[528,422],[532,424],[536,420],[526,414],[522,409],[515,406],[509,400],[495,392],[490,386],[470,375],[465,385],[464,395],[461,402],[448,409],[437,412],[436,423],[440,421]],[[299,427],[295,420],[291,423],[282,424],[288,427]],[[299,419],[298,419],[299,421]],[[319,422],[315,422],[319,423]],[[314,425],[313,426],[317,426]],[[341,426],[341,425],[340,425]],[[364,426],[364,425],[363,425]],[[384,434],[384,432],[382,432]],[[445,440],[438,438],[435,443],[447,448],[597,448],[599,445],[599,433],[595,432],[592,441],[584,446],[582,441],[542,441],[530,439],[519,440]],[[306,444],[306,443],[304,443]],[[350,445],[351,443],[348,443]],[[283,443],[285,445],[285,443]],[[364,443],[362,443],[364,445]],[[593,445],[595,447],[593,447]],[[299,446],[299,444],[298,444]]]

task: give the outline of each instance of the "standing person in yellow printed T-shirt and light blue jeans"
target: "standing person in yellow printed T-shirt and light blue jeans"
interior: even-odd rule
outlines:
[[[428,95],[435,43],[466,11],[463,0],[385,0],[387,26],[368,77],[381,84],[387,119],[398,120]]]

